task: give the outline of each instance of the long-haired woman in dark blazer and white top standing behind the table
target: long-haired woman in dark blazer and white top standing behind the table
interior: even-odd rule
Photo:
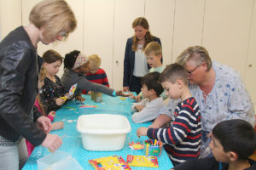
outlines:
[[[128,38],[125,47],[123,90],[139,94],[142,88],[141,78],[149,69],[144,49],[149,42],[161,42],[160,38],[150,34],[148,21],[143,17],[134,20],[132,28],[135,34]]]

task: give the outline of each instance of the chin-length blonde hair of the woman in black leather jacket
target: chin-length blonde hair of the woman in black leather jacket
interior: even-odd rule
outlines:
[[[66,31],[68,36],[77,26],[72,9],[64,0],[44,0],[37,3],[29,14],[29,21],[39,29],[44,27],[46,38],[55,37],[61,31]]]

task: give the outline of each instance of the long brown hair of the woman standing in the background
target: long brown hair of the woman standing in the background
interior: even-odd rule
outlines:
[[[144,29],[149,29],[149,25],[148,25],[148,20],[146,20],[143,17],[138,17],[137,19],[135,19],[132,23],[132,28],[135,28],[136,26],[143,26]],[[153,36],[150,34],[150,31],[148,30],[146,32],[145,35],[145,43],[143,45],[143,50],[146,48],[146,46],[148,45],[149,42],[152,42]],[[133,44],[132,44],[132,51],[136,51],[137,50],[137,37],[134,34],[133,36]]]

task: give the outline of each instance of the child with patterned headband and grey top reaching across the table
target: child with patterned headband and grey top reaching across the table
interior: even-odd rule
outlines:
[[[102,92],[102,94],[108,94],[110,96],[130,96],[130,94],[124,94],[121,90],[115,91],[102,84],[88,81],[84,74],[89,72],[90,62],[84,54],[78,50],[66,54],[64,59],[64,73],[61,77],[61,83],[64,86],[65,92],[68,92],[69,88],[77,83],[75,96],[79,95],[83,89]]]

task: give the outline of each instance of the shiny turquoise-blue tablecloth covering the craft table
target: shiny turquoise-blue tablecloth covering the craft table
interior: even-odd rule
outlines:
[[[64,122],[64,128],[61,130],[55,130],[51,133],[58,134],[60,137],[63,136],[63,144],[59,150],[70,153],[73,158],[75,158],[79,164],[86,170],[93,170],[94,168],[90,166],[88,160],[96,159],[104,156],[122,156],[126,161],[127,155],[143,155],[143,150],[131,150],[129,144],[132,141],[141,142],[143,144],[144,139],[148,137],[137,138],[137,128],[138,127],[148,127],[151,122],[136,124],[131,120],[131,104],[134,100],[125,98],[121,99],[120,97],[110,97],[104,95],[102,97],[102,103],[95,103],[90,99],[89,95],[84,95],[85,101],[84,105],[98,105],[96,108],[86,108],[79,109],[80,105],[77,105],[75,101],[69,101],[66,105],[63,105],[59,111],[56,112],[55,122],[62,121]],[[78,117],[81,115],[87,114],[113,114],[113,115],[123,115],[126,116],[129,122],[131,123],[131,133],[128,133],[125,140],[125,146],[123,150],[119,151],[88,151],[85,150],[82,144],[81,134],[76,130],[76,124]],[[49,151],[42,147],[36,147],[32,155],[29,157],[26,162],[26,166],[23,169],[38,169],[37,160],[41,157],[49,155]],[[163,150],[162,155],[158,157],[159,168],[155,167],[131,167],[131,169],[161,169],[161,170],[170,170],[172,162],[166,154],[166,151]]]

